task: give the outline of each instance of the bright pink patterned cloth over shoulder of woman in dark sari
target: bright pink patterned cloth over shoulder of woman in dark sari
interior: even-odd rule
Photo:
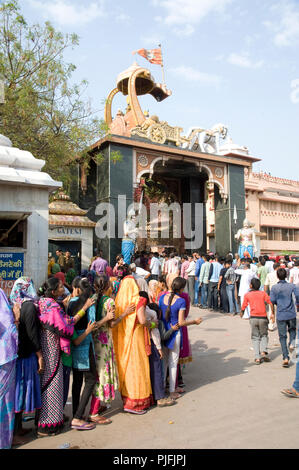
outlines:
[[[51,298],[42,297],[39,301],[39,320],[46,330],[59,336],[60,349],[71,353],[71,337],[74,333],[74,319],[65,315],[60,305]]]

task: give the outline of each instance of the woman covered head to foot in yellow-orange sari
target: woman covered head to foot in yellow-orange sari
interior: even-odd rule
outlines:
[[[154,403],[151,388],[149,332],[145,317],[146,299],[139,296],[133,276],[125,277],[115,299],[117,319],[130,304],[135,310],[113,328],[114,351],[119,375],[119,390],[124,411],[144,414]]]

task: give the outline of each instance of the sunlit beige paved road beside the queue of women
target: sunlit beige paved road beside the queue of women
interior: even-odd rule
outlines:
[[[136,416],[122,412],[118,397],[106,412],[112,424],[32,438],[21,448],[68,442],[81,449],[298,449],[299,400],[280,393],[292,385],[295,366],[282,368],[277,330],[270,333],[272,362],[257,366],[247,320],[192,308],[191,318],[198,315],[204,322],[189,328],[193,362],[183,371],[186,393],[175,406]]]

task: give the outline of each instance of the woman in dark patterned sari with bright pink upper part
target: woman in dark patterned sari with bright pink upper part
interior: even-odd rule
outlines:
[[[86,302],[74,317],[66,315],[57,303],[57,299],[63,295],[63,292],[63,284],[57,278],[48,279],[39,290],[42,296],[39,300],[39,319],[44,373],[41,376],[42,407],[38,416],[38,437],[55,435],[63,427],[61,351],[70,354],[70,340],[74,333],[74,325],[85,315],[90,306],[90,302]]]

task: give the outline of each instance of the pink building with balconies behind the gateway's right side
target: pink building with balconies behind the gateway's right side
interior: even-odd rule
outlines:
[[[264,235],[261,254],[299,254],[299,182],[245,171],[246,217]]]

